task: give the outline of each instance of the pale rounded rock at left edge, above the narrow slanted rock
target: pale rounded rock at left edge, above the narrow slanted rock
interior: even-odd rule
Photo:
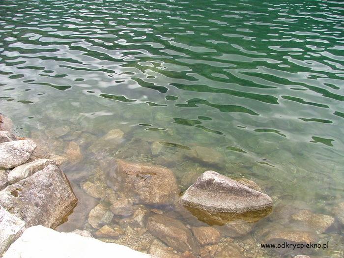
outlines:
[[[26,162],[36,148],[32,140],[0,143],[0,169],[11,169]]]

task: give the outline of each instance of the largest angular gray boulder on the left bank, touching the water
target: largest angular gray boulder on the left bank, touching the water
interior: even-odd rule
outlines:
[[[24,220],[27,227],[57,227],[76,202],[66,176],[55,165],[0,191],[0,205]]]

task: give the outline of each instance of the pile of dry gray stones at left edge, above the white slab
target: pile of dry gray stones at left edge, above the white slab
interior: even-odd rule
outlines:
[[[7,131],[11,126],[3,116],[0,121],[1,255],[31,226],[56,228],[77,198],[54,161],[37,159],[27,163],[36,143]]]

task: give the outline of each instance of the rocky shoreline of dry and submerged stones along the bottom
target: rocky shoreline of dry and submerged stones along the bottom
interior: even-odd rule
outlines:
[[[67,159],[71,164],[83,160],[78,143],[68,142],[64,157],[47,155],[32,140],[13,135],[8,118],[0,119],[0,255],[9,248],[4,258],[16,257],[16,252],[32,257],[29,246],[37,242],[63,257],[69,252],[68,241],[81,250],[87,245],[104,249],[98,253],[103,256],[111,250],[129,257],[266,257],[259,242],[319,242],[319,234],[343,224],[343,205],[337,207],[336,217],[293,209],[276,203],[245,178],[233,180],[209,170],[187,171],[180,184],[171,169],[124,156],[125,145],[118,148],[115,158],[100,159],[100,169],[92,175],[78,184],[69,183],[59,166]],[[87,150],[97,156],[108,150],[107,143],[112,148],[120,146],[123,135],[113,129]],[[196,150],[197,159],[212,162],[207,150]],[[159,151],[161,144],[153,143],[153,155]],[[75,213],[83,217],[74,217]],[[279,224],[264,226],[274,217]],[[53,230],[64,231],[65,224],[60,224],[67,219],[70,231],[81,230]],[[300,230],[288,230],[288,223],[299,224]],[[59,253],[54,241],[67,253]],[[45,248],[39,252],[34,257],[47,256]],[[73,257],[92,257],[78,255]]]

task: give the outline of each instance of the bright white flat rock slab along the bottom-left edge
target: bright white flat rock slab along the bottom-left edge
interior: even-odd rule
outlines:
[[[3,258],[150,258],[114,243],[105,243],[75,233],[31,227],[7,250]]]

